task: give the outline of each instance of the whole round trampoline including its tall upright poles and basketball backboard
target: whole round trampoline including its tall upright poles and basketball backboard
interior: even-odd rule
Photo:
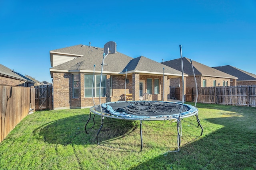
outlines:
[[[105,46],[106,46],[106,55],[105,55]],[[109,47],[116,47],[115,42],[110,41],[104,45],[104,54],[103,54],[103,61],[102,61],[102,70],[101,70],[101,77],[100,77],[100,89],[101,89],[101,82],[102,82],[102,72],[103,72],[103,66],[104,66],[104,59],[106,56],[110,53]],[[108,48],[107,48],[108,47]],[[184,74],[183,74],[183,63],[182,63],[182,45],[180,45],[180,57],[181,57],[181,65],[182,65],[182,96],[184,96]],[[115,53],[116,49],[112,50],[111,52]],[[191,60],[190,60],[191,61]],[[191,61],[191,66],[193,69],[194,74],[194,68]],[[94,65],[94,72],[95,72],[95,65]],[[127,76],[127,69],[126,69],[126,76]],[[94,77],[94,76],[93,76]],[[163,68],[163,77],[164,77],[164,68]],[[194,79],[196,82],[195,74]],[[92,86],[93,86],[92,81]],[[125,81],[126,82],[126,81]],[[196,85],[197,87],[197,85]],[[197,88],[196,88],[197,90]],[[99,90],[99,96],[101,90]],[[124,94],[126,94],[126,83],[124,88]],[[125,96],[126,97],[126,96]],[[92,91],[92,100],[94,102],[93,98],[93,91]],[[196,93],[196,101],[197,101],[197,93]],[[163,83],[163,101],[122,101],[122,102],[108,102],[101,104],[101,98],[99,98],[99,105],[95,105],[90,107],[90,115],[88,118],[88,121],[86,122],[84,129],[85,132],[88,133],[86,126],[88,125],[88,122],[91,119],[91,113],[94,113],[95,115],[101,116],[101,125],[98,130],[98,133],[96,135],[96,140],[98,145],[100,145],[98,141],[98,135],[103,127],[104,118],[114,118],[114,119],[122,119],[122,120],[134,120],[134,121],[140,121],[140,151],[142,151],[143,143],[142,143],[142,121],[166,121],[169,120],[171,122],[177,122],[177,143],[178,143],[178,150],[176,151],[170,151],[170,152],[178,152],[180,150],[180,137],[182,135],[181,133],[181,120],[186,117],[190,117],[195,115],[196,120],[198,122],[198,126],[200,126],[201,130],[201,136],[203,133],[202,125],[200,124],[200,120],[198,119],[198,109],[195,107],[184,104],[184,97],[182,98],[182,103],[178,102],[164,102],[164,83]],[[94,121],[93,117],[93,121]],[[94,122],[95,125],[95,122]],[[93,125],[93,126],[94,126]],[[92,127],[93,127],[92,126]],[[92,129],[92,127],[90,129]]]

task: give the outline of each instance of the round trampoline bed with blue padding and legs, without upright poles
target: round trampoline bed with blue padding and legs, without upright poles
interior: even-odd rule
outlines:
[[[95,115],[102,115],[102,123],[98,133],[96,135],[97,143],[98,135],[102,129],[104,117],[122,119],[122,120],[139,120],[140,121],[140,141],[142,151],[142,121],[177,121],[178,130],[178,149],[180,147],[180,136],[179,129],[181,127],[181,122],[179,119],[190,117],[196,115],[196,120],[198,121],[198,126],[201,127],[200,121],[198,119],[198,109],[194,106],[183,104],[182,113],[180,109],[182,107],[181,103],[177,102],[162,102],[162,101],[132,101],[132,102],[108,102],[101,105],[96,105],[90,108],[91,113]],[[102,112],[101,112],[102,110]],[[180,117],[179,117],[180,115]],[[86,126],[90,121],[90,117],[85,125],[85,131],[87,132]],[[94,123],[95,124],[95,123]],[[202,135],[203,129],[201,131]]]

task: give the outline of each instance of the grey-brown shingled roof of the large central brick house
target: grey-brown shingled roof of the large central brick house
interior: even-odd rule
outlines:
[[[78,50],[78,51],[76,51]],[[92,50],[92,51],[91,51]],[[83,55],[82,57],[75,58],[66,63],[59,64],[50,68],[50,72],[93,72],[95,64],[95,72],[100,73],[102,69],[103,60],[103,48],[94,48],[89,46],[76,45],[67,47],[64,49],[58,49],[50,51],[50,53],[71,53]],[[145,74],[163,74],[163,67],[165,67],[164,73],[168,76],[181,76],[181,72],[158,63],[146,57],[137,57],[133,59],[127,55],[116,52],[109,54],[104,59],[103,72],[106,74],[125,74],[126,69],[128,73],[145,73]],[[188,75],[184,75],[188,76]]]

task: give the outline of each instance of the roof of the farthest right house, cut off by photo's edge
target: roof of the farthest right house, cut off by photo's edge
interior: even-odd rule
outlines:
[[[227,74],[230,74],[232,76],[238,77],[237,81],[256,81],[255,74],[246,72],[246,71],[236,68],[234,66],[226,65],[226,66],[218,66],[218,67],[213,67],[213,68],[220,70],[222,72],[226,72]]]

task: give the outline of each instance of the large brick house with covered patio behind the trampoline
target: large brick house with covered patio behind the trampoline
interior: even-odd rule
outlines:
[[[164,101],[167,101],[170,78],[182,76],[180,71],[146,57],[132,58],[117,51],[111,52],[104,60],[102,103],[124,100],[122,98],[124,93],[132,94],[134,101],[140,100],[140,96],[145,92],[150,94],[150,100],[162,100],[164,92]],[[103,53],[103,48],[87,45],[75,45],[50,51],[54,109],[93,106],[92,93],[95,104],[99,104]],[[93,76],[94,65],[95,75]],[[185,74],[185,76],[188,75]]]

